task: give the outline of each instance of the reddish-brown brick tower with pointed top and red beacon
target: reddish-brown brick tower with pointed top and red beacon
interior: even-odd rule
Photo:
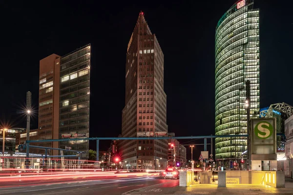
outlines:
[[[143,12],[139,14],[128,43],[125,80],[122,137],[167,133],[164,55]],[[155,169],[158,158],[162,158],[164,167],[167,166],[167,147],[167,140],[125,140],[119,146],[123,160],[137,169]]]

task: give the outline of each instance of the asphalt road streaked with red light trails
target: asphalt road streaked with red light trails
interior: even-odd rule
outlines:
[[[148,187],[159,183],[173,187],[179,184],[179,180],[160,179],[156,176],[134,178],[94,179],[72,177],[70,180],[41,177],[38,181],[13,181],[0,182],[0,195],[121,195],[125,192]]]

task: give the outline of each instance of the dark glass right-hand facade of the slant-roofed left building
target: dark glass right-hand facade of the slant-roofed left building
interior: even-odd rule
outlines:
[[[89,137],[90,44],[60,59],[59,138]],[[61,141],[59,147],[84,151],[88,158],[88,140]],[[72,152],[63,152],[73,155]]]

